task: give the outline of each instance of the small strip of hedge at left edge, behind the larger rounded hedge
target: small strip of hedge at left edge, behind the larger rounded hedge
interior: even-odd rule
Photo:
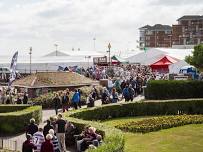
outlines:
[[[19,111],[28,107],[29,105],[0,105],[0,113]]]

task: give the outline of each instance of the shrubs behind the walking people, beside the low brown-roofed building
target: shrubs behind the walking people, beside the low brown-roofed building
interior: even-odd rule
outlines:
[[[84,104],[86,104],[86,99],[87,99],[88,95],[92,91],[92,87],[81,87],[78,89],[80,89],[82,92],[81,93],[81,104],[84,105]],[[101,88],[101,86],[96,86],[96,89],[99,92],[102,88]],[[61,92],[61,91],[58,91],[58,92]],[[70,100],[72,99],[73,93],[74,93],[73,91],[70,91],[70,94],[69,94]],[[44,108],[50,109],[50,108],[54,108],[53,98],[54,98],[54,93],[47,93],[47,94],[44,94],[37,98],[32,99],[32,101],[35,105],[41,105],[43,109]]]

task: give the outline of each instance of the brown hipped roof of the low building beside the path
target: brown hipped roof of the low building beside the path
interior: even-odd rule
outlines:
[[[37,72],[14,81],[12,86],[40,88],[91,85],[94,82],[74,72]]]

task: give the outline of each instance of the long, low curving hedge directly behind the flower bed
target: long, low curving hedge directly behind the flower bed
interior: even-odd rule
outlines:
[[[180,113],[203,114],[203,99],[111,104],[90,110],[81,110],[70,116],[84,120],[105,120],[117,117],[177,115]]]

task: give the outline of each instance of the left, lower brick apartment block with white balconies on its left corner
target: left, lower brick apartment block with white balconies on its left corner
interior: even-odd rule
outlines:
[[[172,27],[169,25],[156,24],[146,25],[140,30],[139,47],[171,47],[172,46]]]

